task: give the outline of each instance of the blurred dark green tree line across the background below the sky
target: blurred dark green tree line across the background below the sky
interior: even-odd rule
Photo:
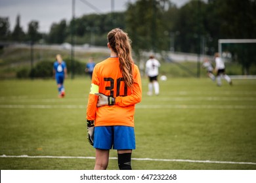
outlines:
[[[49,33],[39,32],[39,22],[28,24],[25,33],[16,18],[10,30],[9,18],[0,18],[0,41],[40,42],[106,46],[110,29],[125,29],[140,50],[191,52],[212,55],[218,39],[256,38],[255,0],[192,0],[178,8],[171,0],[138,0],[127,3],[124,12],[85,14],[68,22],[53,23]],[[203,48],[202,48],[203,45]]]

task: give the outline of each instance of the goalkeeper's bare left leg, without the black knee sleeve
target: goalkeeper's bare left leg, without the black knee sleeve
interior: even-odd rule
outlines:
[[[108,167],[109,156],[110,150],[96,148],[95,170],[106,170]]]

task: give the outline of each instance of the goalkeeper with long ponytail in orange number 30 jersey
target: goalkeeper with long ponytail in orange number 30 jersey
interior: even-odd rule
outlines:
[[[119,169],[131,169],[135,104],[142,99],[140,72],[123,30],[108,33],[110,58],[96,64],[87,105],[87,137],[96,149],[95,169],[107,169],[110,149]]]

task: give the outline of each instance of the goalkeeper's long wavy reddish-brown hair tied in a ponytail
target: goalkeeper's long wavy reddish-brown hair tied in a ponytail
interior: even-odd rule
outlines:
[[[108,42],[119,58],[119,69],[123,75],[125,85],[129,88],[133,86],[133,65],[131,56],[131,40],[123,30],[116,28],[108,33]]]

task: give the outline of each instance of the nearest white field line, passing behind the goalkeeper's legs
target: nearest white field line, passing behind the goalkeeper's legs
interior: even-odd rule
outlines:
[[[95,159],[95,157],[86,156],[7,156],[3,154],[0,158],[53,158],[53,159]],[[117,159],[111,157],[110,159]],[[221,163],[221,164],[240,164],[240,165],[256,165],[253,162],[236,162],[236,161],[210,161],[210,160],[191,160],[191,159],[153,159],[153,158],[131,158],[137,161],[177,161],[177,162],[188,162],[188,163]]]

